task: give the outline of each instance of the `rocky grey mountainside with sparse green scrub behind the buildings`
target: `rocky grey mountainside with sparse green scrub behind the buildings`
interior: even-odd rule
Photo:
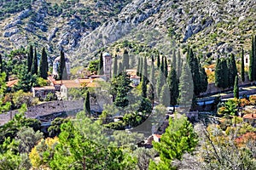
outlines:
[[[1,1],[0,49],[34,42],[55,57],[63,48],[73,65],[97,49],[132,40],[169,54],[188,44],[207,57],[249,49],[256,33],[255,0]],[[20,3],[19,3],[20,2]]]

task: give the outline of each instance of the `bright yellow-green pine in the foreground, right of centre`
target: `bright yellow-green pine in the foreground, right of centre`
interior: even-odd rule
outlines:
[[[169,126],[161,136],[160,142],[153,142],[154,150],[160,155],[160,161],[150,161],[149,170],[177,169],[172,165],[174,160],[181,160],[183,154],[191,153],[198,143],[198,136],[186,116],[169,119]]]

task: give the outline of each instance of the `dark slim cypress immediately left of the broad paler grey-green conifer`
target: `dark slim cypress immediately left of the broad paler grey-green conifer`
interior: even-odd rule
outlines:
[[[170,93],[170,105],[173,106],[173,111],[175,111],[175,105],[177,105],[178,98],[178,82],[177,82],[177,73],[173,66],[171,66],[171,71],[167,77],[167,84],[169,87]]]

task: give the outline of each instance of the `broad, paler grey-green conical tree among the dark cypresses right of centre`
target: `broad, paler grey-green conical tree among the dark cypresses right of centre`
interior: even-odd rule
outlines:
[[[183,105],[184,107],[191,107],[192,105],[192,100],[194,96],[194,85],[193,84],[193,78],[191,71],[189,69],[189,65],[186,63],[183,64],[183,70],[182,70],[182,75],[180,77],[180,82],[179,82],[179,105]]]

